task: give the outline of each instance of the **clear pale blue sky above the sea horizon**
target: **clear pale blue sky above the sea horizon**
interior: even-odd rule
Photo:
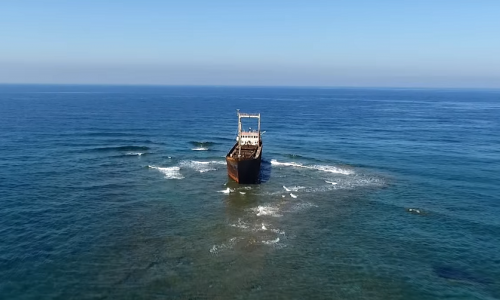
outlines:
[[[500,1],[0,2],[0,82],[500,87]]]

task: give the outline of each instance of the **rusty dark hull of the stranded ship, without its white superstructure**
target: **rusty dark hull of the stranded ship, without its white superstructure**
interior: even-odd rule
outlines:
[[[243,146],[243,155],[238,157],[238,143],[226,155],[227,175],[240,184],[255,184],[260,181],[262,143],[258,146]]]

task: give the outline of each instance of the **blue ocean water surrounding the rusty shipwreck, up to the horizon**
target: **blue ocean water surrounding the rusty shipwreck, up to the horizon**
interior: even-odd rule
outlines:
[[[0,298],[498,299],[499,146],[498,90],[0,86]]]

